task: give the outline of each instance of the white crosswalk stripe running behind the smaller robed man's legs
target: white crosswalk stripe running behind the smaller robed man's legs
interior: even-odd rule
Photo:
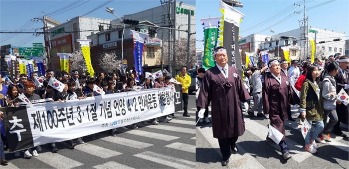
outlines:
[[[261,140],[265,140],[269,131],[269,129],[266,126],[248,118],[245,118],[244,121],[245,121],[246,130],[253,133],[257,137],[259,137]],[[293,140],[287,139],[286,143],[287,143],[287,147],[289,148],[289,152],[291,152],[292,154],[292,159],[298,163],[301,163],[307,158],[313,156],[311,153],[303,149],[303,146],[300,146],[299,143]],[[280,150],[279,145],[272,145],[272,146],[275,147],[277,150]],[[279,151],[278,153],[281,154]]]

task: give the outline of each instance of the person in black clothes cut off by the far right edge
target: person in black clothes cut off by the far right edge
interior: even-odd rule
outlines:
[[[344,89],[348,94],[349,74],[348,74],[347,69],[349,67],[349,57],[346,55],[340,56],[340,59],[337,61],[339,62],[339,66],[340,66],[340,71],[335,76],[336,86],[337,86],[337,94],[342,89]],[[334,129],[333,133],[335,133],[336,135],[341,136],[341,137],[347,137],[347,135],[342,132],[340,123],[344,123],[344,124],[348,125],[348,114],[349,114],[348,109],[349,109],[349,105],[346,106],[344,104],[337,104],[337,106],[336,106],[336,112],[337,112],[339,121],[337,122],[337,124],[333,128]]]

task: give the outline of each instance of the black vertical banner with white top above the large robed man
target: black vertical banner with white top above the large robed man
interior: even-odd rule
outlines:
[[[228,53],[228,64],[236,67],[239,74],[242,75],[241,57],[239,50],[239,26],[240,20],[245,16],[240,11],[232,6],[220,1],[219,10],[223,13],[222,21],[220,22],[218,40],[223,42],[223,45]]]

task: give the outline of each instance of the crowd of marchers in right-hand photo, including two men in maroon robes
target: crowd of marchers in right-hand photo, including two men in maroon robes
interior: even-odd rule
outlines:
[[[320,59],[302,62],[292,60],[270,60],[261,63],[260,69],[249,65],[241,79],[237,70],[227,64],[226,49],[214,49],[216,66],[206,70],[197,94],[198,118],[206,119],[208,105],[211,103],[213,137],[218,139],[222,154],[222,166],[229,163],[230,150],[238,152],[236,141],[245,131],[243,113],[251,120],[254,112],[257,117],[266,117],[271,127],[280,133],[279,138],[269,134],[266,141],[278,144],[282,158],[291,157],[285,135],[285,121],[289,120],[303,126],[309,123],[310,129],[304,136],[304,149],[312,154],[319,151],[316,142],[326,144],[332,141],[330,133],[347,137],[340,123],[348,125],[348,108],[338,97],[343,89],[349,89],[349,57],[337,53],[330,56],[325,66]],[[200,69],[199,69],[200,70]],[[201,72],[205,72],[201,70]],[[249,109],[250,96],[254,105]],[[291,105],[298,108],[298,118],[292,118]],[[263,114],[262,114],[263,112]],[[305,121],[306,120],[306,121]]]

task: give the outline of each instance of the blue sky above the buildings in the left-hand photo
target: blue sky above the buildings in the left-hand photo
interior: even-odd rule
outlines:
[[[29,22],[34,17],[42,18],[42,11],[49,15],[49,17],[63,23],[67,19],[82,16],[99,5],[102,7],[86,16],[116,19],[114,15],[105,11],[106,7],[114,8],[115,13],[122,17],[126,14],[161,5],[160,0],[113,0],[108,4],[102,5],[108,1],[110,0],[0,0],[0,31],[18,31],[23,25],[25,27],[24,32],[32,32],[35,29],[42,31],[42,29],[39,29],[43,27],[42,22]],[[195,0],[181,1],[186,4],[195,5]],[[52,13],[65,6],[68,7],[59,12]],[[74,6],[76,7],[73,8]],[[16,34],[13,37],[11,36],[13,34],[0,33],[0,45],[12,44],[12,46],[31,47],[32,43],[44,41],[43,35],[35,37],[32,34]]]

